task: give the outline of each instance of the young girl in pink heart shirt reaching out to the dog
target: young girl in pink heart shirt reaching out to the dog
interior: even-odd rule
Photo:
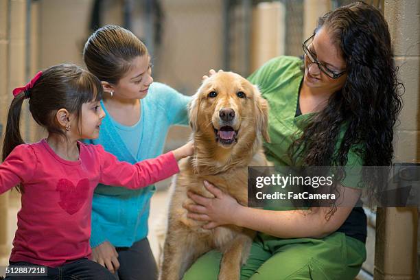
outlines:
[[[105,113],[100,106],[100,81],[76,65],[39,72],[13,94],[0,194],[17,186],[22,207],[6,279],[19,271],[13,268],[34,265],[47,266],[45,279],[113,279],[106,268],[89,260],[94,188],[103,183],[137,189],[170,177],[178,172],[176,161],[192,153],[193,144],[131,165],[118,161],[101,145],[78,141],[98,137]],[[26,98],[32,117],[48,132],[47,139],[38,143],[25,144],[19,132]]]

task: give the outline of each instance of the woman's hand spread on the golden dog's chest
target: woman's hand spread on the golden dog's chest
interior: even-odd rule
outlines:
[[[205,226],[202,226],[203,229],[214,229],[224,224],[235,224],[232,214],[236,213],[242,206],[234,198],[224,194],[223,191],[211,185],[211,183],[204,181],[204,185],[215,197],[205,198],[189,191],[188,197],[194,200],[196,204],[183,205],[188,210],[187,217],[208,222]]]

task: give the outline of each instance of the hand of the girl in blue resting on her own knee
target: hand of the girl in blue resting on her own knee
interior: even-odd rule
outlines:
[[[117,250],[108,241],[92,248],[92,260],[104,266],[104,268],[107,268],[113,274],[119,268]]]

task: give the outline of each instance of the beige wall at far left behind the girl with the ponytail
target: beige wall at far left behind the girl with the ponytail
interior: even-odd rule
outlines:
[[[27,12],[30,14],[27,14]],[[0,124],[2,148],[12,89],[23,86],[38,71],[38,2],[27,7],[25,0],[0,0]],[[29,23],[27,21],[30,21]],[[30,28],[28,36],[27,27]],[[30,116],[27,102],[21,114],[21,135],[24,141],[38,141],[41,130]],[[16,227],[10,220],[10,207],[19,207],[20,195],[8,191],[0,196],[0,264],[6,264]]]

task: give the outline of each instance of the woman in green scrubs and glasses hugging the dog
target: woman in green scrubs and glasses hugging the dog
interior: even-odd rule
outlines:
[[[243,207],[208,183],[215,198],[189,194],[196,202],[185,205],[189,218],[208,221],[206,229],[235,224],[258,232],[241,279],[354,279],[366,259],[366,215],[354,206],[375,176],[360,170],[391,164],[401,109],[388,26],[376,8],[353,3],[320,18],[303,51],[304,60],[275,58],[248,78],[270,104],[266,156],[276,165],[355,171],[336,184],[347,203],[272,211]],[[218,279],[221,257],[206,253],[184,279]]]

